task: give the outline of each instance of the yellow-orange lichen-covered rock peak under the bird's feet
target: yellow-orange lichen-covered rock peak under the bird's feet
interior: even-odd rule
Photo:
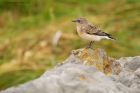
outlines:
[[[121,70],[120,64],[115,61],[113,58],[107,56],[106,52],[103,49],[78,49],[73,50],[72,54],[82,60],[84,65],[95,66],[98,70],[105,73],[106,75],[110,74],[119,74]]]

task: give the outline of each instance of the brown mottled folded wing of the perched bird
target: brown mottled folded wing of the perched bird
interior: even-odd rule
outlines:
[[[92,25],[89,25],[88,29],[86,30],[86,33],[90,35],[107,36],[111,39],[114,39],[110,34],[103,32],[98,27]]]

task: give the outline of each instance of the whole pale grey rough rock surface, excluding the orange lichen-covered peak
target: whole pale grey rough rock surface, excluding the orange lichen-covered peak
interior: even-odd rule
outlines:
[[[96,61],[103,62],[99,60]],[[140,56],[120,58],[116,62],[121,70],[107,76],[96,66],[83,64],[85,60],[74,52],[40,78],[0,93],[140,93]]]

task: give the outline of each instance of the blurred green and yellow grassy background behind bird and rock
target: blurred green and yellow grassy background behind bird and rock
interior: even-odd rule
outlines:
[[[85,47],[71,22],[77,17],[117,39],[94,48],[114,58],[140,55],[140,0],[0,0],[0,90],[39,77]]]

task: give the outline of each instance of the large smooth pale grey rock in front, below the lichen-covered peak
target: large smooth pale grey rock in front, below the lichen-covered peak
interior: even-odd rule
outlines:
[[[129,89],[123,87],[119,88],[95,67],[66,63],[39,79],[1,93],[128,93]]]

